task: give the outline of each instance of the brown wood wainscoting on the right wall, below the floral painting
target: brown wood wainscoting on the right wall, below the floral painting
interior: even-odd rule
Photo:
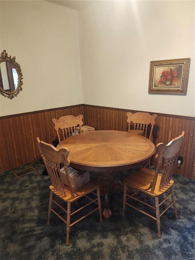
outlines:
[[[95,130],[119,130],[127,131],[128,123],[126,112],[144,112],[135,110],[125,110],[116,108],[99,107],[92,105],[83,105],[85,123],[93,126]],[[154,126],[151,141],[154,144],[168,144],[173,138],[179,136],[185,131],[185,141],[180,155],[183,156],[183,164],[176,167],[175,173],[195,179],[195,119],[188,116],[177,116],[160,114],[157,112],[148,112],[157,114],[156,124]],[[157,163],[152,157],[152,165]]]

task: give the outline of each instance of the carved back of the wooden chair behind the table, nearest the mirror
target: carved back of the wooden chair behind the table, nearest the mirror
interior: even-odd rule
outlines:
[[[83,125],[83,115],[78,116],[61,116],[59,119],[52,119],[54,123],[54,129],[56,131],[59,142],[69,137],[76,131],[76,127],[79,126],[81,133],[81,126]],[[62,138],[60,138],[59,128],[62,130]]]

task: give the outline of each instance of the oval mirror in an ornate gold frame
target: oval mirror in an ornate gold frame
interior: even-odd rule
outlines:
[[[0,56],[0,93],[5,98],[14,98],[22,90],[22,71],[20,65],[4,50]]]

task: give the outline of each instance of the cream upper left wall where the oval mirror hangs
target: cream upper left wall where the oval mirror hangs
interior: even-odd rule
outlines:
[[[44,1],[0,1],[0,52],[23,73],[23,90],[0,95],[0,116],[83,103],[77,11]]]

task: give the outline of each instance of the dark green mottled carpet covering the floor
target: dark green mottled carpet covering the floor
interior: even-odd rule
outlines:
[[[14,169],[0,174],[0,259],[194,259],[194,181],[174,175],[179,219],[171,207],[161,217],[161,239],[156,221],[126,207],[122,218],[122,192],[109,198],[112,217],[99,222],[98,211],[70,228],[66,247],[66,225],[51,213],[47,226],[49,201],[48,176],[42,175],[42,160],[27,164],[33,173],[17,178]],[[123,172],[123,176],[129,174]],[[117,173],[115,178],[121,178]],[[102,199],[102,207],[104,199]],[[82,203],[82,201],[81,201]]]

